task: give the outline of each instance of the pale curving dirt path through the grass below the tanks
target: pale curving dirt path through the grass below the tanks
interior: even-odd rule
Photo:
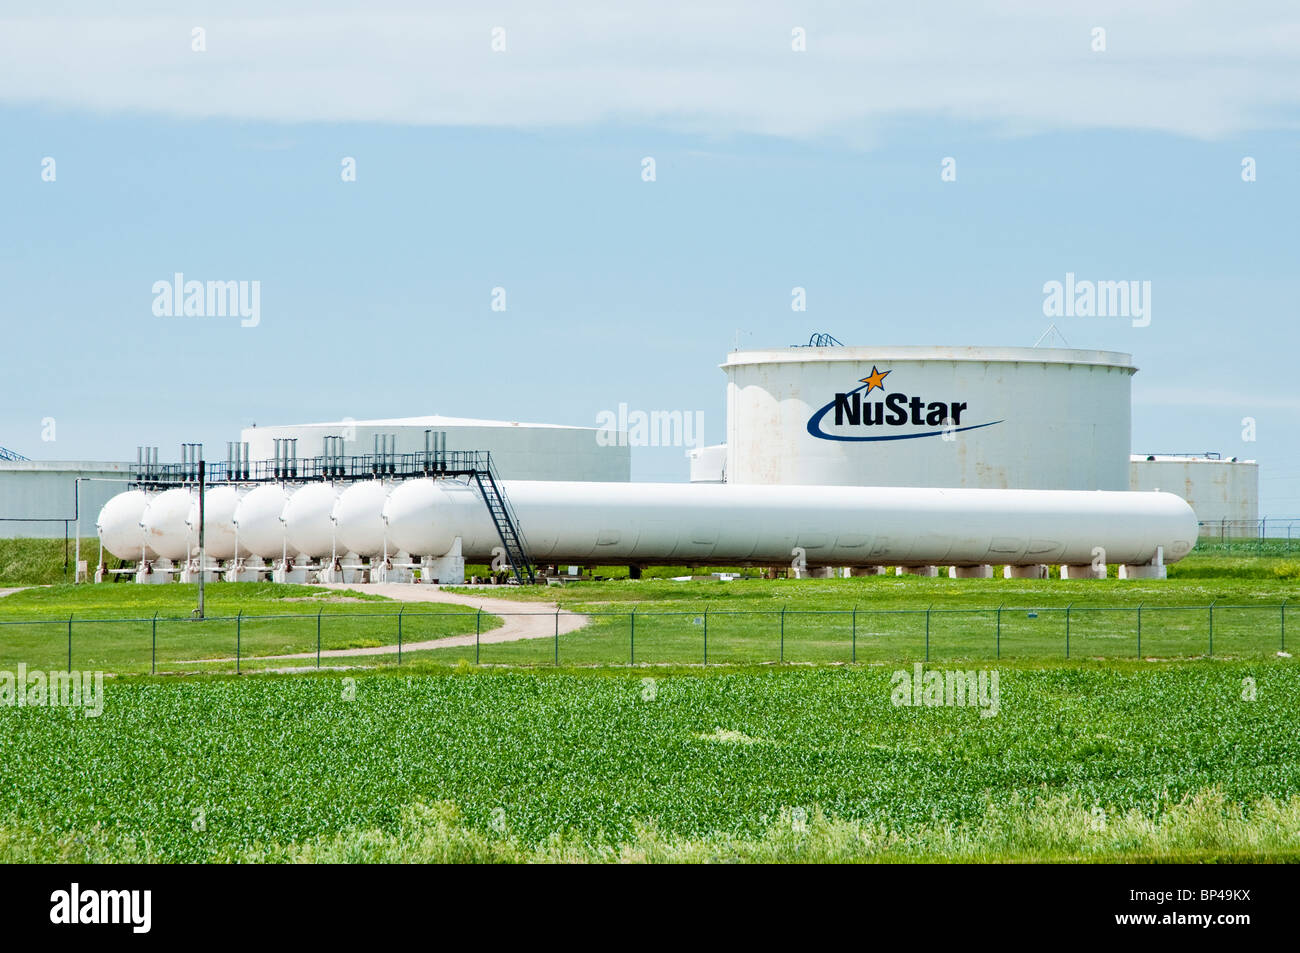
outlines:
[[[524,638],[554,638],[556,625],[556,611],[559,612],[560,634],[573,632],[586,625],[590,620],[585,615],[558,608],[554,602],[517,602],[515,599],[480,598],[477,595],[462,595],[459,593],[445,593],[436,585],[417,585],[403,582],[326,582],[325,589],[352,589],[359,593],[374,593],[385,595],[396,602],[442,602],[469,608],[481,608],[489,615],[502,618],[499,628],[484,632],[477,640],[484,645],[493,642],[517,642]],[[424,642],[403,642],[402,651],[420,651],[422,649],[459,649],[474,644],[476,636],[447,636],[445,638],[430,638]],[[359,655],[395,655],[396,645],[377,645],[367,649],[325,649],[320,657],[324,658],[355,658]],[[290,655],[248,655],[246,660],[261,659],[296,659],[316,658],[315,651],[299,651]],[[200,662],[234,662],[234,658],[186,659],[181,664],[196,664]]]

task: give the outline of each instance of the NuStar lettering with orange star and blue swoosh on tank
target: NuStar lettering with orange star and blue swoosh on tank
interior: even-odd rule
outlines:
[[[861,387],[854,387],[845,394],[836,394],[826,407],[809,417],[809,433],[820,439],[836,441],[887,441],[887,439],[915,439],[918,437],[942,437],[952,439],[952,434],[962,430],[978,430],[982,426],[1001,424],[1001,420],[991,420],[987,424],[963,424],[962,413],[968,408],[965,400],[927,400],[902,391],[885,393],[885,377],[892,371],[880,371],[874,364],[871,374],[863,377]],[[868,400],[871,393],[879,390],[880,400]],[[866,393],[863,393],[866,391]],[[854,433],[844,430],[827,432],[831,424],[827,420],[833,413],[833,426],[854,426],[867,430]],[[926,426],[939,428],[937,430],[919,430],[898,433],[894,428]]]

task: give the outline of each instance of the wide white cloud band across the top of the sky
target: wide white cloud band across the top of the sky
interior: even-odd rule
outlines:
[[[1223,138],[1300,117],[1294,4],[233,3],[0,21],[0,101],[280,122],[558,126],[866,142],[901,117]],[[84,16],[73,16],[82,13]],[[205,52],[191,49],[203,27]],[[491,30],[506,30],[506,52]],[[807,51],[793,52],[794,27]],[[1106,30],[1106,52],[1091,49]]]

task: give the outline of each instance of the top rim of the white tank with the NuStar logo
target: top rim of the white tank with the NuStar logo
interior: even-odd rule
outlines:
[[[939,347],[907,345],[892,347],[770,347],[732,351],[723,369],[738,364],[811,364],[864,360],[959,360],[982,364],[1095,364],[1136,371],[1132,355],[1121,351],[1087,351],[1074,347]]]

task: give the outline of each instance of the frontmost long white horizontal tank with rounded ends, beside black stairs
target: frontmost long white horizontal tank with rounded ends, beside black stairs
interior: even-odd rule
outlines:
[[[504,481],[538,563],[810,566],[1144,566],[1196,543],[1196,516],[1171,493],[968,490],[734,484]],[[452,480],[398,486],[390,542],[467,560],[500,546],[478,488]]]

